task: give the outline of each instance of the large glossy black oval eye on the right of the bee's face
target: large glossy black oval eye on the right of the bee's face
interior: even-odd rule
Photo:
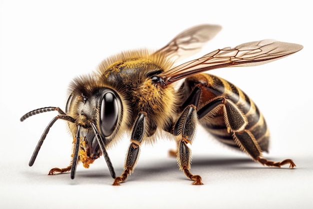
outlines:
[[[117,123],[118,113],[117,98],[111,92],[105,93],[100,106],[100,127],[104,136],[112,134]]]

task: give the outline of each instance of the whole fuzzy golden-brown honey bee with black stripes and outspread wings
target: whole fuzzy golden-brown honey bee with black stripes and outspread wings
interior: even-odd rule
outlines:
[[[263,165],[295,166],[291,159],[279,162],[262,157],[268,150],[269,131],[253,101],[228,81],[204,72],[223,67],[255,66],[268,63],[302,49],[301,45],[262,40],[218,49],[204,56],[174,66],[212,39],[221,27],[200,25],[190,28],[157,50],[127,51],[102,61],[97,71],[73,79],[65,111],[45,107],[23,115],[57,111],[41,135],[29,161],[31,166],[51,126],[58,119],[67,121],[73,137],[71,161],[67,167],[52,168],[49,175],[70,171],[73,179],[77,163],[85,168],[104,156],[113,185],[120,185],[130,175],[139,157],[141,144],[155,142],[167,132],[176,141],[177,165],[192,184],[202,184],[201,177],[190,172],[190,145],[199,124],[220,142],[247,153]],[[180,87],[176,82],[184,79]],[[115,172],[106,152],[129,133],[124,171]]]

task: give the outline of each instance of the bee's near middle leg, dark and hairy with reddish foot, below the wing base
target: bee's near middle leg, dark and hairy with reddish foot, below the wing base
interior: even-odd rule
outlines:
[[[193,175],[189,169],[191,167],[191,151],[187,146],[191,143],[195,134],[195,126],[197,122],[197,114],[194,105],[188,105],[178,118],[173,134],[177,138],[177,164],[180,170],[183,170],[185,175],[193,180],[192,184],[201,185],[202,180],[199,175]]]

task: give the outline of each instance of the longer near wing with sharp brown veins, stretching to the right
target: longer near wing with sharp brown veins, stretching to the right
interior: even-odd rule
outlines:
[[[158,76],[165,85],[180,79],[202,73],[204,71],[233,66],[262,65],[288,55],[291,55],[303,46],[274,40],[262,40],[241,44],[235,48],[218,49],[199,59],[191,60],[182,65],[165,71]]]

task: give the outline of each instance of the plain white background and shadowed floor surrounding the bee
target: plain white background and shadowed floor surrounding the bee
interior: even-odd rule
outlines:
[[[91,1],[90,1],[91,2]],[[309,1],[1,1],[0,2],[0,207],[1,208],[312,208],[312,25]],[[108,1],[106,1],[108,2]],[[204,3],[205,2],[205,3]],[[45,106],[64,109],[67,85],[123,50],[158,49],[194,25],[223,27],[203,53],[249,41],[302,44],[287,58],[219,75],[245,91],[270,127],[271,160],[292,158],[295,169],[267,168],[198,130],[193,186],[168,157],[172,141],[143,145],[134,173],[112,186],[104,159],[89,169],[46,175],[70,160],[64,121],[51,128],[36,162],[28,160],[56,112],[27,119]],[[203,54],[202,53],[202,54]],[[200,55],[199,55],[200,56]],[[108,150],[122,172],[128,139]]]

